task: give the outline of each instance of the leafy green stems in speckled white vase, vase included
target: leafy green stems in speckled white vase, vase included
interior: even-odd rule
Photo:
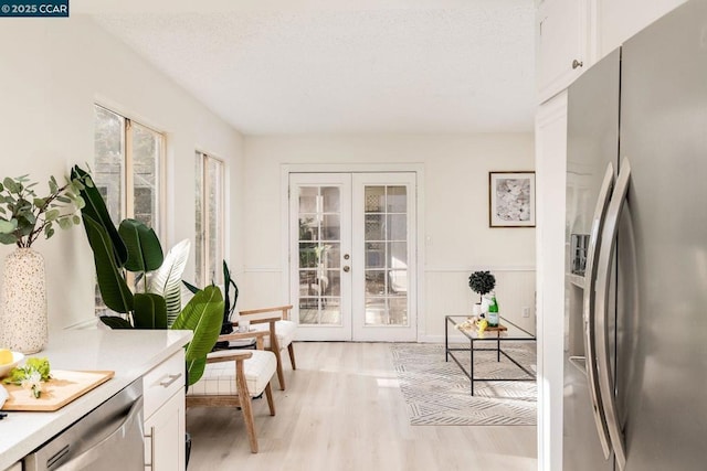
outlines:
[[[51,238],[56,226],[81,223],[80,192],[91,180],[77,175],[60,186],[51,176],[48,185],[49,194],[39,196],[29,175],[0,183],[0,243],[17,245],[4,259],[0,344],[22,353],[39,352],[49,340],[44,258],[32,244],[42,235]]]

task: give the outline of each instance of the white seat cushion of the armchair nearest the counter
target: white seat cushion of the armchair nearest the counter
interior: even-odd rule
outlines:
[[[277,360],[275,360],[273,352],[264,350],[249,350],[249,352],[253,353],[253,356],[243,362],[245,383],[247,384],[249,394],[251,396],[258,396],[275,374]],[[229,353],[229,351],[218,353],[225,354]],[[187,392],[188,396],[236,396],[238,394],[235,387],[235,361],[208,363],[201,379],[190,386]]]

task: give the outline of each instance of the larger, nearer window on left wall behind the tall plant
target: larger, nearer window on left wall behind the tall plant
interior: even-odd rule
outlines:
[[[130,217],[161,234],[161,175],[165,135],[131,119],[94,106],[94,183],[114,224]],[[96,286],[96,312],[106,308]]]

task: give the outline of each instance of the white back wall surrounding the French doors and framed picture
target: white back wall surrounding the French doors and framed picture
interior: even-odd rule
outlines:
[[[519,317],[519,306],[528,306],[525,322],[535,328],[535,229],[488,227],[488,171],[534,170],[531,133],[246,137],[244,148],[247,251],[240,309],[288,300],[282,165],[414,163],[424,173],[419,242],[426,286],[419,287],[419,338],[440,341],[444,314],[471,312],[475,295],[467,282],[474,269],[497,271],[504,280],[497,288],[502,309]]]

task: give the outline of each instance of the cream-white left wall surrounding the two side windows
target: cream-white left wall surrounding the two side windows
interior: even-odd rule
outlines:
[[[102,103],[168,133],[168,214],[178,217],[168,218],[165,249],[193,240],[194,148],[229,161],[231,215],[240,217],[241,136],[87,17],[12,19],[0,44],[0,178],[29,173],[44,193],[50,175],[92,164],[93,105]],[[94,265],[83,227],[34,247],[46,261],[50,330],[89,320]],[[231,258],[241,263],[238,250]]]

